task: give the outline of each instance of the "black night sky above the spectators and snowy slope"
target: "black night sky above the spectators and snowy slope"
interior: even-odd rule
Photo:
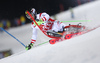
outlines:
[[[25,10],[35,8],[38,13],[47,12],[49,15],[56,14],[61,11],[60,4],[64,10],[69,7],[75,7],[92,0],[3,0],[0,2],[0,20],[14,19],[21,15],[25,15]]]

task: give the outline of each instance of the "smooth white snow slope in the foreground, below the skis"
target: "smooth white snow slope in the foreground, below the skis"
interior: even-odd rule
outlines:
[[[55,45],[46,44],[0,63],[100,63],[100,28]]]

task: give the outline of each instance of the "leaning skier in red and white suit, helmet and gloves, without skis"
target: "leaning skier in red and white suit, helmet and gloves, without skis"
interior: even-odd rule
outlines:
[[[37,11],[35,8],[32,8],[30,11],[32,17],[36,20],[38,25],[42,28],[43,32],[47,32],[48,30],[53,30],[55,32],[63,32],[63,28],[65,27],[65,24],[63,24],[60,21],[54,20],[50,18],[50,16],[43,12],[37,14]],[[26,47],[26,50],[29,50],[33,47],[33,44],[36,42],[37,38],[37,30],[39,29],[38,26],[34,23],[34,21],[31,19],[31,17],[25,12],[26,17],[32,21],[32,29],[33,29],[33,35],[31,38],[31,43]]]

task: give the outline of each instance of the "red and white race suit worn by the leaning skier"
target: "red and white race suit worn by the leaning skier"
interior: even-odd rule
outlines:
[[[42,19],[45,22],[44,24],[40,25],[43,32],[47,32],[48,30],[54,30],[56,32],[62,31],[63,30],[62,26],[65,26],[62,22],[51,19],[47,13],[37,14],[36,19],[38,19],[38,20]],[[31,27],[33,29],[31,43],[34,43],[34,42],[36,42],[37,29],[39,29],[39,28],[38,28],[38,26],[34,25],[34,21],[32,22]]]

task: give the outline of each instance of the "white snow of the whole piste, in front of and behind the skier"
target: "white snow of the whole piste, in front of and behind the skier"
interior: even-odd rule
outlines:
[[[100,25],[100,1],[78,6],[73,9],[75,18],[70,18],[70,11],[56,15],[57,20],[91,20],[82,24],[94,28]],[[77,24],[78,22],[70,22]],[[65,23],[68,25],[69,23]],[[25,45],[30,43],[31,24],[7,30]],[[48,41],[41,31],[38,31],[36,45]],[[11,49],[13,55],[0,59],[0,63],[100,63],[100,28],[89,33],[51,45],[49,43],[26,51],[15,39],[6,33],[0,34],[0,51]]]

